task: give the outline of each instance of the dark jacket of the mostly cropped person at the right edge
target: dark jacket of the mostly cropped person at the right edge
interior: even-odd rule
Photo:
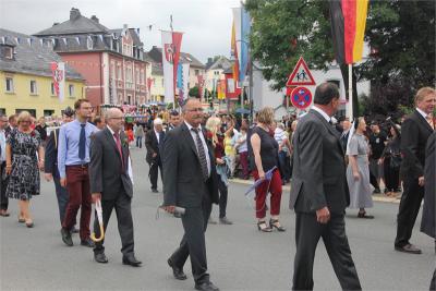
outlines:
[[[425,159],[425,194],[421,231],[432,238],[436,238],[436,132],[427,141]]]

